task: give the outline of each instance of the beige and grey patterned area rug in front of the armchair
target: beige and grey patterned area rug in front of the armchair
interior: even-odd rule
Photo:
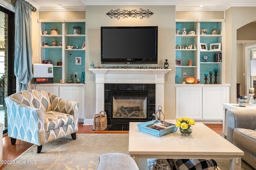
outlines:
[[[128,154],[128,134],[76,134],[43,145],[37,154],[33,145],[4,170],[96,170],[101,154]],[[114,160],[113,160],[114,161]]]

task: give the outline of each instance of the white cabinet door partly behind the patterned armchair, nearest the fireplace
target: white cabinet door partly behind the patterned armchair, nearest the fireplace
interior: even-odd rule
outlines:
[[[84,86],[60,86],[60,98],[79,103],[79,119],[84,119],[84,91]]]

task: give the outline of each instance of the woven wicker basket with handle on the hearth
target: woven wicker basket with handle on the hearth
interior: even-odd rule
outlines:
[[[94,131],[104,131],[107,128],[107,126],[108,126],[107,114],[105,111],[100,111],[99,114],[94,115],[94,121],[93,121]]]

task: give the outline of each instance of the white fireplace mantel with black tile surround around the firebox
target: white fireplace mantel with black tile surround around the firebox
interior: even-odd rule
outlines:
[[[143,85],[144,90],[148,90],[148,113],[153,113],[153,110],[158,109],[158,106],[162,106],[162,111],[164,112],[164,76],[171,69],[89,68],[89,70],[95,74],[94,112],[106,111],[108,125],[110,125],[110,113],[112,111],[112,90],[141,90]],[[152,86],[154,86],[154,90],[151,89]],[[150,119],[150,117],[151,115],[148,118]],[[92,123],[93,119],[84,119],[84,124],[92,125]]]

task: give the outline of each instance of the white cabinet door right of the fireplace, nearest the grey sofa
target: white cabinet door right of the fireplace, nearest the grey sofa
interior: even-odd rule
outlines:
[[[223,103],[229,103],[229,87],[203,87],[203,119],[223,119]]]

